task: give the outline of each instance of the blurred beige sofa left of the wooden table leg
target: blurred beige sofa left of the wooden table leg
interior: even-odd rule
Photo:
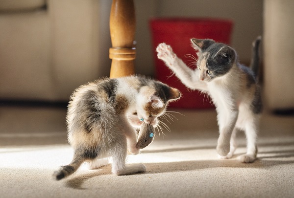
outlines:
[[[0,0],[0,99],[67,101],[109,75],[110,0]]]

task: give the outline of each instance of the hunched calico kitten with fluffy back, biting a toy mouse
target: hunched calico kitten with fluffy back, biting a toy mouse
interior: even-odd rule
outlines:
[[[132,154],[140,150],[131,124],[140,127],[144,119],[156,127],[168,103],[180,96],[175,88],[139,76],[102,79],[77,88],[66,117],[73,161],[53,177],[60,180],[73,174],[84,161],[89,161],[92,169],[98,168],[108,163],[98,159],[109,156],[113,158],[113,174],[145,172],[144,164],[125,164],[127,149]]]

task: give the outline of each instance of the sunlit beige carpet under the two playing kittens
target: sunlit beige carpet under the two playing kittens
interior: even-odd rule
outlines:
[[[141,154],[147,172],[114,176],[110,166],[81,167],[61,181],[51,179],[73,155],[67,144],[64,109],[0,107],[1,198],[293,198],[294,117],[265,114],[261,120],[258,160],[239,162],[245,137],[232,159],[216,153],[214,110],[181,110],[168,123],[172,132],[156,134]]]

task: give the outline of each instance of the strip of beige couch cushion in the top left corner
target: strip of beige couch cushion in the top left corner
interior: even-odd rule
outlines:
[[[0,11],[25,11],[44,7],[46,0],[0,0]]]

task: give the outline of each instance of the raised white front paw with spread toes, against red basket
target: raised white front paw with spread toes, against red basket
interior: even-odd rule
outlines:
[[[172,47],[165,43],[161,43],[156,48],[157,57],[163,60],[168,66],[172,66],[172,63],[176,57],[172,51]]]

